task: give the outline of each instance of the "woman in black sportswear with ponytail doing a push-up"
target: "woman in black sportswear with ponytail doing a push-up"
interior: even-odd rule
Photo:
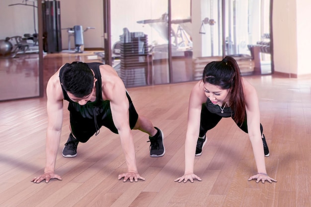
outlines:
[[[259,104],[255,88],[242,78],[232,57],[209,63],[203,79],[193,87],[188,108],[188,127],[185,141],[185,172],[178,182],[193,182],[201,178],[194,174],[194,157],[201,155],[207,141],[205,134],[223,117],[232,117],[236,125],[248,133],[254,152],[257,174],[248,180],[272,181],[267,175],[265,156],[269,149],[260,124]]]

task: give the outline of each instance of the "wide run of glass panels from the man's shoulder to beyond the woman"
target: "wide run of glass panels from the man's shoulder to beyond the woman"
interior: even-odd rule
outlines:
[[[270,74],[269,16],[270,0],[111,1],[116,69],[127,87],[198,80],[224,56],[242,75]]]

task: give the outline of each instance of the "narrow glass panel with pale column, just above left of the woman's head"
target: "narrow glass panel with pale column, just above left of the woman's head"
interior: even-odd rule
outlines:
[[[192,0],[193,80],[204,67],[222,60],[222,0]]]

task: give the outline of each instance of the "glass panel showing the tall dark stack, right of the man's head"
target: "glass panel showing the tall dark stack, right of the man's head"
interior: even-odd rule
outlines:
[[[169,83],[167,0],[111,0],[113,67],[126,87]]]

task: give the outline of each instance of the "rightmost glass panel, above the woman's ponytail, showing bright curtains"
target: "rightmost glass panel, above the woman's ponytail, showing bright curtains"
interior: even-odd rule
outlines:
[[[242,74],[271,73],[270,0],[225,0],[226,51]]]

